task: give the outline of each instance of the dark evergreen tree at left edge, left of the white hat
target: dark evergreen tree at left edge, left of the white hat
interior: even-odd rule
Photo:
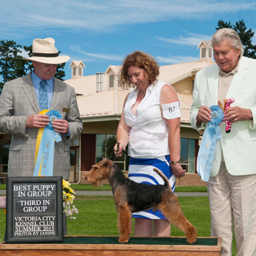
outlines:
[[[0,95],[4,83],[26,75],[26,61],[19,55],[21,47],[13,40],[6,40],[6,42],[0,40],[0,75],[3,77],[3,82],[0,83]]]

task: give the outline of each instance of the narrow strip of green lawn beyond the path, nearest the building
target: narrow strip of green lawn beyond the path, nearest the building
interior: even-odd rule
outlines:
[[[111,190],[110,185],[104,184],[102,187],[95,188],[91,184],[72,184],[71,188],[76,190],[91,190],[91,191],[100,191],[100,190]],[[0,189],[6,189],[6,184],[0,184]],[[207,192],[206,186],[203,187],[193,187],[193,186],[181,186],[175,188],[176,192]]]

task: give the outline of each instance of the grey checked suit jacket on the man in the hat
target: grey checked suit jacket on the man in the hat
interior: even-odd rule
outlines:
[[[70,112],[63,112],[63,108],[70,109]],[[55,77],[51,109],[59,111],[70,127],[70,138],[61,134],[62,141],[54,145],[53,167],[54,176],[63,176],[63,179],[68,179],[70,174],[69,141],[81,134],[83,124],[74,88]],[[39,112],[31,74],[4,84],[0,97],[0,132],[12,134],[8,177],[33,176],[38,129],[28,128],[26,130],[26,120],[28,116]]]

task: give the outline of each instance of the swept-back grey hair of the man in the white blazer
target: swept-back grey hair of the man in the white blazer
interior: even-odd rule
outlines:
[[[230,45],[234,49],[240,49],[240,57],[244,54],[243,44],[241,42],[241,39],[239,35],[236,33],[236,30],[232,28],[221,28],[218,29],[213,35],[212,35],[212,42],[211,46],[213,49],[213,44],[219,44],[225,39],[228,39],[230,42]]]

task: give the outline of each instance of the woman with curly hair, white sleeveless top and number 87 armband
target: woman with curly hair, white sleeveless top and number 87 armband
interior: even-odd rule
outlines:
[[[185,171],[180,160],[180,101],[170,84],[157,81],[159,65],[149,54],[135,51],[122,62],[120,83],[134,87],[124,101],[116,132],[116,157],[129,144],[129,179],[145,184],[163,184],[154,172],[161,170],[175,190],[175,177]],[[145,195],[147,196],[147,195]],[[134,236],[170,236],[170,224],[161,211],[135,212]],[[154,225],[154,228],[153,228]],[[153,231],[154,230],[154,231]],[[154,233],[154,234],[153,234]]]

